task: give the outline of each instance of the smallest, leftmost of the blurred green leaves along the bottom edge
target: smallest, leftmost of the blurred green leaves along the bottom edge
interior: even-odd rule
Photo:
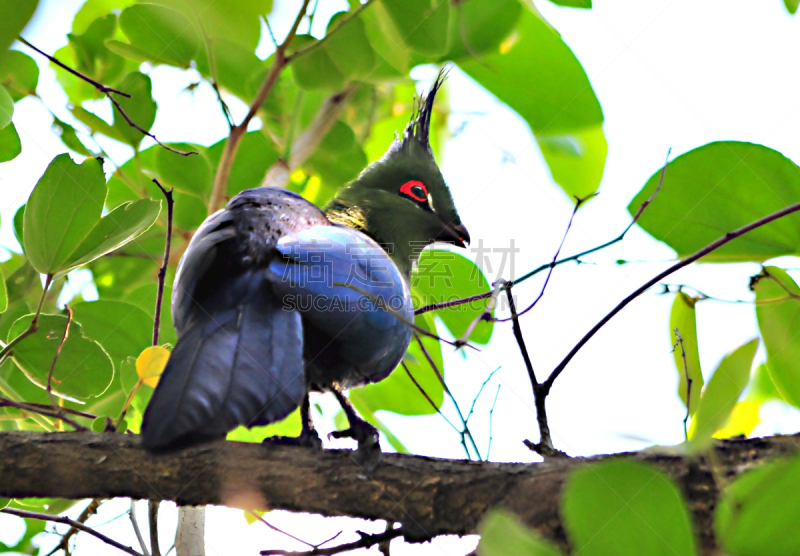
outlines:
[[[506,510],[492,510],[478,525],[478,556],[559,556],[558,548],[544,540]]]

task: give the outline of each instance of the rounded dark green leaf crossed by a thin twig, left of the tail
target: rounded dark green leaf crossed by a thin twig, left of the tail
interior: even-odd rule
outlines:
[[[14,323],[8,341],[27,330],[33,315]],[[14,347],[11,357],[34,384],[45,388],[50,366],[64,335],[67,318],[40,315],[39,329]],[[59,395],[85,399],[105,392],[114,377],[114,365],[103,347],[83,335],[79,323],[70,324],[61,354],[53,370],[53,391]]]

